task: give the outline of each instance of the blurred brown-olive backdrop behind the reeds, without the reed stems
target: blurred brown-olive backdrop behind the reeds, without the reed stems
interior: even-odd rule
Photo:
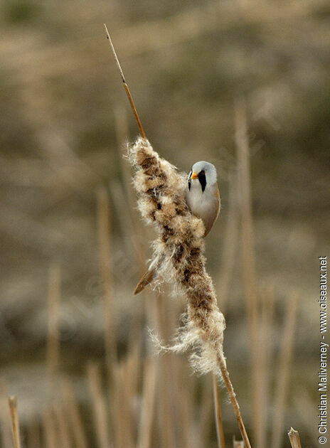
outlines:
[[[316,446],[318,257],[329,249],[330,236],[329,14],[324,0],[1,2],[1,378],[3,388],[18,395],[23,428],[38,420],[46,401],[50,265],[61,272],[59,370],[73,380],[84,409],[86,363],[104,363],[96,218],[101,187],[110,196],[120,356],[144,301],[132,297],[142,267],[130,235],[121,160],[122,140],[134,140],[137,126],[105,39],[107,23],[154,148],[187,172],[200,159],[218,169],[223,208],[206,242],[215,284],[230,209],[228,178],[235,172],[234,104],[245,98],[257,284],[275,292],[270,370],[277,366],[285,304],[297,292],[284,430],[297,426],[303,445]],[[140,228],[148,252],[151,235]],[[225,353],[250,430],[243,295],[238,241]],[[186,356],[182,360],[191,380]],[[198,388],[203,379],[196,381]],[[238,430],[221,394],[230,441]],[[198,406],[198,394],[195,401]],[[269,415],[273,402],[270,393]],[[205,446],[214,447],[210,431]]]

